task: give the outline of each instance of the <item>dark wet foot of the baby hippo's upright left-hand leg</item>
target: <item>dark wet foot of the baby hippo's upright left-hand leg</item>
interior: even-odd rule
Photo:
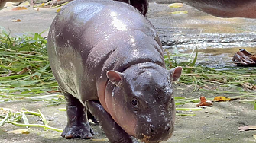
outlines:
[[[72,125],[72,126],[66,126],[66,128],[63,130],[61,136],[66,139],[70,138],[92,138],[94,135],[94,132],[92,131],[92,128],[89,126],[89,122],[83,123],[82,125]]]

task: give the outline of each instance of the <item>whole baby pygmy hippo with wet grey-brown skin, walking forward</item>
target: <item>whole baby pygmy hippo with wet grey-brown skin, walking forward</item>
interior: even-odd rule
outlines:
[[[66,98],[64,138],[92,138],[92,116],[110,142],[171,137],[172,82],[182,68],[165,68],[157,31],[136,8],[109,0],[70,2],[51,24],[47,50]]]

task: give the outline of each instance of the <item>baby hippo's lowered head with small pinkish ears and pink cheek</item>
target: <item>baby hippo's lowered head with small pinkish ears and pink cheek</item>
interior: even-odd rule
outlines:
[[[106,100],[110,115],[125,132],[141,141],[167,140],[175,118],[172,81],[181,71],[181,67],[168,71],[152,63],[132,65],[122,73],[108,71],[115,86]]]

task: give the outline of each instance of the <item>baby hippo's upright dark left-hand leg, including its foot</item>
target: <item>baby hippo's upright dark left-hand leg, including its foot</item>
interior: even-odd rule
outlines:
[[[61,136],[63,138],[92,138],[94,132],[87,119],[86,107],[76,97],[63,91],[66,99],[67,125]]]

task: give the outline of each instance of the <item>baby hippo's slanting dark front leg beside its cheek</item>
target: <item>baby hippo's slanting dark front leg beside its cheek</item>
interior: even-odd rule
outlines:
[[[86,102],[90,113],[98,119],[105,135],[112,143],[132,143],[131,136],[128,135],[107,113],[103,106],[97,102],[89,100]]]

